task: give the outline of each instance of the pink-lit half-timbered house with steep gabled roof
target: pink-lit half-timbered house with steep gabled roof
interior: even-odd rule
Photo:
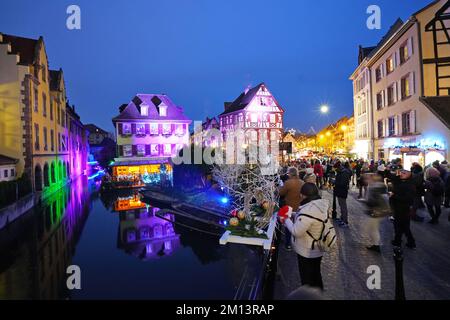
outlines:
[[[283,132],[284,110],[264,83],[246,89],[233,102],[225,102],[219,115],[224,141],[236,130],[243,130],[247,144],[278,144]]]

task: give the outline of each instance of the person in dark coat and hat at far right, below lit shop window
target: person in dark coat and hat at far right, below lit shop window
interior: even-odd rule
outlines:
[[[425,181],[425,203],[431,216],[429,223],[438,224],[439,216],[442,213],[441,205],[445,186],[438,169],[430,168],[427,173],[428,179]]]

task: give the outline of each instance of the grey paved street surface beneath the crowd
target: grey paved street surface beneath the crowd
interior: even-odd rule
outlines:
[[[330,191],[323,191],[323,197],[332,201]],[[395,269],[392,223],[386,219],[381,225],[382,253],[366,249],[368,236],[365,224],[371,219],[363,212],[363,204],[356,200],[357,190],[352,189],[348,198],[349,229],[336,227],[338,247],[325,254],[322,261],[324,296],[334,300],[394,299]],[[339,212],[339,209],[338,209]],[[404,283],[406,298],[410,300],[450,299],[450,223],[449,210],[444,209],[439,225],[412,222],[411,230],[416,237],[417,250],[404,249]],[[381,290],[369,290],[366,286],[367,268],[377,265],[381,269]],[[286,296],[300,286],[295,253],[280,248],[278,274],[275,283],[275,299]]]

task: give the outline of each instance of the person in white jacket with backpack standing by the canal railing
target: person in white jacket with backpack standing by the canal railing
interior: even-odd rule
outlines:
[[[328,217],[328,200],[322,199],[319,189],[313,183],[305,183],[301,190],[302,203],[292,219],[282,219],[282,223],[292,234],[292,244],[298,258],[298,268],[302,285],[323,290],[320,265],[323,252],[314,239],[320,239],[323,223]]]

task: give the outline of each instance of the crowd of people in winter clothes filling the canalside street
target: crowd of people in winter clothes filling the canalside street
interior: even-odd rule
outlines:
[[[292,217],[283,218],[285,245],[297,253],[302,285],[323,289],[320,264],[323,251],[314,246],[329,218],[342,228],[349,228],[347,198],[349,190],[357,190],[370,216],[366,230],[370,239],[367,249],[381,252],[380,223],[393,222],[392,245],[414,250],[416,240],[410,229],[411,220],[423,222],[418,209],[426,209],[430,224],[438,224],[442,206],[450,207],[450,165],[435,161],[422,167],[413,163],[404,168],[401,159],[389,162],[351,159],[300,160],[284,167],[280,204],[292,208]],[[332,191],[333,203],[322,199],[323,189]],[[338,207],[340,216],[338,217]],[[449,215],[450,222],[450,215]]]

